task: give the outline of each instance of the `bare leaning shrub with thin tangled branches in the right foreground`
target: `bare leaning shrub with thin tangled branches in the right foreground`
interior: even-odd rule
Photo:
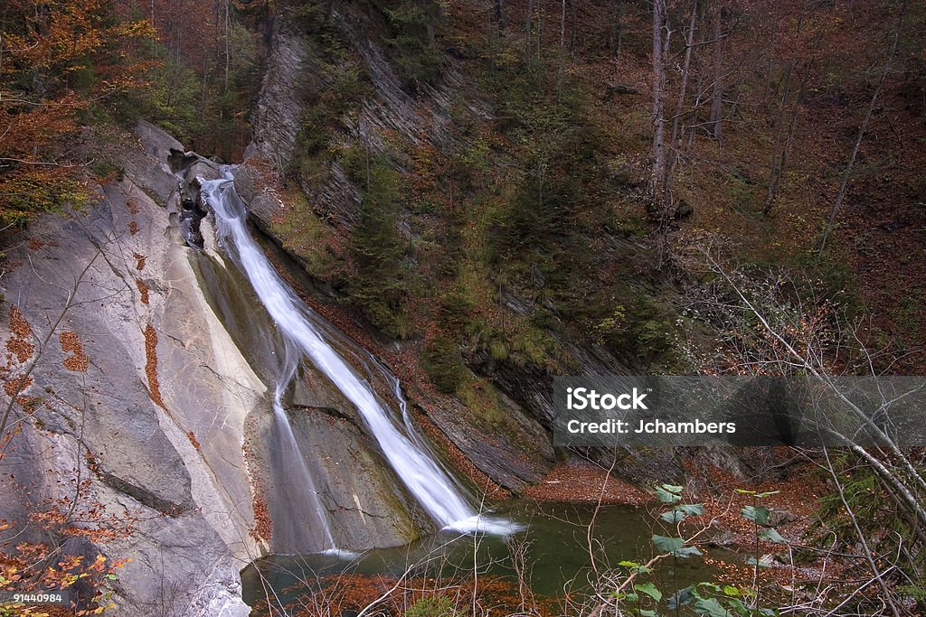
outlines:
[[[835,413],[853,419],[859,429],[846,431],[829,422],[834,413],[832,408],[827,407],[819,415],[811,413],[805,418],[807,424],[820,431],[824,445],[820,450],[801,451],[831,475],[832,486],[844,506],[843,516],[853,530],[854,537],[844,538],[843,542],[849,549],[857,549],[858,561],[870,571],[870,579],[852,590],[851,596],[861,596],[864,587],[879,586],[886,611],[895,617],[909,614],[896,598],[889,579],[919,578],[918,562],[926,547],[926,478],[914,453],[902,447],[890,428],[889,412],[896,401],[914,395],[916,386],[898,393],[876,384],[877,396],[869,406],[857,402],[850,397],[840,377],[883,378],[876,367],[877,354],[863,343],[861,323],[842,317],[826,297],[816,292],[813,281],[787,272],[747,274],[721,260],[709,242],[705,244],[701,241],[682,259],[695,269],[705,268],[713,277],[707,286],[695,285],[690,291],[694,310],[720,327],[727,341],[713,368],[757,375],[801,376],[827,401],[837,405]],[[859,438],[861,435],[865,441]],[[827,443],[836,443],[838,447],[828,447]],[[898,539],[893,549],[885,549],[876,547],[869,539],[871,529],[858,519],[846,498],[845,479],[832,462],[834,451],[851,457],[876,479],[881,488],[879,499],[887,500],[888,508],[906,522],[907,540]],[[823,610],[818,606],[814,611],[844,614],[839,612],[844,606],[845,602],[836,609]]]

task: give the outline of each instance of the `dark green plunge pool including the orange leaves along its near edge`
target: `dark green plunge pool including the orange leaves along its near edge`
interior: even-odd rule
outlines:
[[[548,607],[549,612],[543,614],[569,614],[562,598],[569,595],[573,601],[581,601],[591,589],[589,581],[594,579],[588,537],[594,505],[512,500],[502,510],[521,524],[523,531],[510,537],[461,536],[441,531],[394,549],[340,557],[276,555],[254,561],[242,572],[244,601],[254,607],[252,615],[350,617],[405,576],[399,587],[413,591],[395,601],[405,602],[407,609],[413,606],[408,598],[427,598],[434,589],[440,589],[439,593],[448,598],[465,596],[469,603],[476,564],[482,581],[479,601],[483,608],[494,606],[491,614],[527,614],[512,612],[519,609],[520,596],[534,597],[537,605]],[[623,560],[648,561],[654,554],[650,537],[655,524],[656,516],[644,508],[601,506],[594,515],[592,535],[599,573],[608,567],[620,570],[618,564]],[[705,555],[742,561],[723,549],[706,549]],[[519,585],[519,570],[523,585]],[[649,580],[660,589],[674,591],[716,576],[713,565],[694,557],[662,561]],[[393,595],[402,596],[398,591]],[[436,602],[434,606],[439,608]],[[281,607],[286,608],[282,611]],[[398,614],[404,611],[400,608]],[[443,613],[432,608],[432,612],[409,614]]]

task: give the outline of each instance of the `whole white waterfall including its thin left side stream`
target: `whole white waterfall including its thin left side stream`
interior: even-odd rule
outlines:
[[[220,247],[244,272],[281,335],[282,349],[276,353],[281,366],[274,384],[273,409],[283,447],[291,450],[282,452],[289,462],[287,475],[305,488],[306,509],[311,511],[296,523],[318,526],[319,530],[314,532],[316,545],[335,548],[326,512],[319,503],[306,459],[282,406],[282,395],[305,357],[356,406],[395,474],[437,524],[461,533],[514,531],[513,524],[479,515],[469,504],[463,490],[420,438],[394,376],[356,345],[345,343],[277,274],[248,231],[246,208],[234,190],[232,167],[224,168],[223,173],[222,179],[202,181],[202,195],[215,214]],[[367,375],[361,376],[353,364],[344,360],[344,353],[354,356]],[[381,380],[392,391],[393,405],[383,401],[370,385],[370,379]]]

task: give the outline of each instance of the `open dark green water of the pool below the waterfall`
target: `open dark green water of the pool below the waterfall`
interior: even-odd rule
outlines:
[[[473,572],[474,564],[480,575],[513,577],[512,553],[518,550],[524,555],[534,594],[560,597],[566,587],[580,593],[589,588],[593,574],[588,533],[594,514],[591,505],[517,500],[508,503],[503,512],[523,530],[512,537],[441,532],[405,547],[356,555],[276,555],[255,561],[242,573],[244,601],[253,606],[274,595],[275,603],[285,605],[317,586],[325,576],[347,573],[398,577],[409,566],[420,563],[425,565],[414,567],[411,577],[467,576]],[[655,521],[656,517],[645,509],[603,506],[594,515],[591,535],[599,572],[618,567],[622,560],[644,562],[652,557],[650,537]],[[658,528],[655,533],[667,534]],[[714,575],[712,566],[694,557],[660,562],[651,580],[670,593]]]

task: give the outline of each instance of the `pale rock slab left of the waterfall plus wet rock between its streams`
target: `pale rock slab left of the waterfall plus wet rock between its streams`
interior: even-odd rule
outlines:
[[[319,548],[286,533],[299,524],[287,495],[300,487],[280,472],[271,350],[255,343],[272,327],[207,223],[205,252],[183,241],[169,167],[181,144],[146,123],[136,132],[119,147],[122,179],[84,209],[36,222],[9,253],[0,341],[19,433],[0,480],[0,519],[14,524],[3,533],[64,541],[29,522],[37,504],[96,506],[99,526],[133,528],[63,551],[131,559],[113,583],[119,614],[246,615],[247,563]],[[307,368],[290,400],[338,546],[400,545],[430,527],[336,389]]]

